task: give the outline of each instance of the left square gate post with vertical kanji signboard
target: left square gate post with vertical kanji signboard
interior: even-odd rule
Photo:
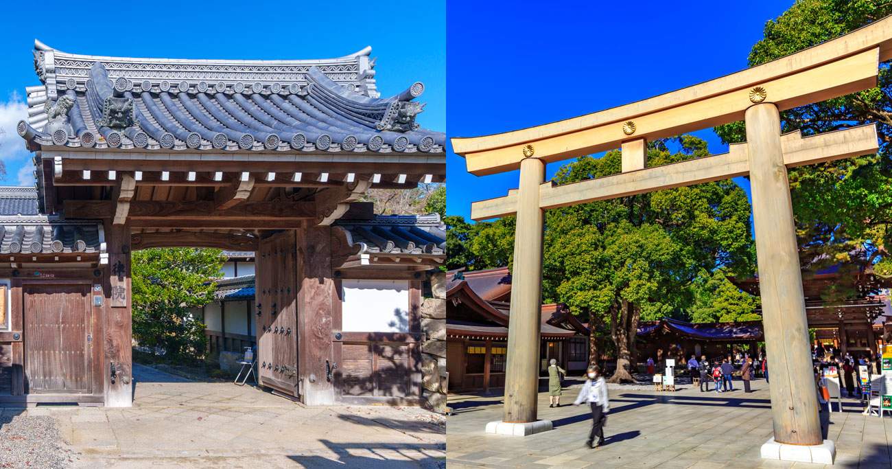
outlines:
[[[105,406],[129,407],[133,405],[130,227],[106,222],[104,230],[109,264],[103,269],[105,359],[100,373],[105,377]]]

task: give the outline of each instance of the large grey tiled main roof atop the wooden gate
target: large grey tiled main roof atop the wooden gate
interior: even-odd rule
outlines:
[[[421,82],[380,98],[371,48],[336,59],[207,61],[67,54],[36,41],[29,117],[43,147],[442,153]]]

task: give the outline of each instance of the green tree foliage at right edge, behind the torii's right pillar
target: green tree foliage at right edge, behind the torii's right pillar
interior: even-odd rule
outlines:
[[[764,38],[753,46],[749,64],[767,63],[837,38],[892,13],[880,0],[800,0],[764,27]],[[877,122],[880,153],[837,162],[801,166],[789,171],[793,211],[803,253],[812,268],[857,259],[879,262],[875,272],[892,276],[887,252],[892,242],[892,75],[880,65],[877,88],[781,113],[783,131],[804,136]],[[725,142],[746,139],[743,122],[717,127]],[[819,260],[814,263],[814,260]]]

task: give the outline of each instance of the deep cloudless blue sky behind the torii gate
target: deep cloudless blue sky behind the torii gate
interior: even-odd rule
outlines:
[[[765,21],[792,0],[518,2],[447,6],[449,134],[474,137],[624,105],[747,68]],[[712,130],[712,153],[727,147]],[[563,162],[566,163],[566,162]],[[561,163],[551,163],[547,176]],[[476,177],[447,160],[447,213],[507,194],[517,172]],[[736,180],[749,192],[747,180]]]

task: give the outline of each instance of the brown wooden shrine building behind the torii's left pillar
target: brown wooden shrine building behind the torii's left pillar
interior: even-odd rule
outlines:
[[[494,298],[510,295],[507,267],[447,273],[446,347],[450,392],[505,385],[510,304]],[[541,306],[540,375],[549,360],[569,373],[588,365],[588,329],[562,304]]]

